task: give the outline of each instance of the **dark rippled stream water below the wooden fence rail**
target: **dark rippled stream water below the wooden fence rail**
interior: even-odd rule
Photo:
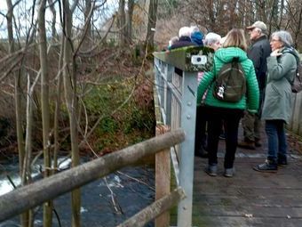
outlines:
[[[38,169],[38,168],[36,168]],[[83,227],[111,227],[123,223],[155,199],[155,170],[153,166],[131,166],[107,175],[98,181],[82,187],[81,222]],[[0,164],[0,195],[12,191],[6,174],[18,184],[18,164]],[[38,174],[38,171],[35,171]],[[54,208],[59,214],[61,226],[71,226],[70,193],[54,200]],[[0,211],[1,212],[1,211]],[[36,208],[35,226],[43,226],[42,207]],[[53,225],[60,226],[53,215]],[[0,223],[0,227],[20,226],[19,217]],[[147,227],[154,226],[148,223]]]

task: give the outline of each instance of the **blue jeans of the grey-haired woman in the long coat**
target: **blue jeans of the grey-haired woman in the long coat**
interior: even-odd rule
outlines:
[[[267,159],[277,162],[277,156],[286,156],[287,142],[283,120],[266,120],[268,141]]]

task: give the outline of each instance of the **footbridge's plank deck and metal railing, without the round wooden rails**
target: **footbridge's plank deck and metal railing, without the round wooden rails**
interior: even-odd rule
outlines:
[[[266,158],[267,143],[264,132],[262,132],[264,144],[261,148],[237,149],[234,162],[236,172],[233,178],[223,176],[224,141],[219,142],[217,177],[211,177],[203,172],[207,159],[194,158],[194,162],[191,162],[194,154],[192,141],[195,137],[193,122],[195,122],[196,72],[210,70],[211,57],[211,52],[206,48],[183,48],[170,53],[155,53],[155,83],[160,109],[158,112],[161,112],[158,116],[162,117],[158,121],[171,126],[171,130],[183,128],[186,132],[186,140],[191,139],[189,142],[191,146],[183,148],[179,156],[176,152],[175,156],[178,158],[172,160],[180,159],[179,185],[183,185],[186,194],[192,195],[192,198],[179,203],[178,216],[171,218],[178,221],[172,222],[171,225],[302,226],[302,143],[295,135],[301,135],[302,131],[300,118],[302,93],[293,94],[295,104],[288,128],[295,134],[290,132],[288,134],[289,166],[280,167],[277,174],[263,174],[252,169]],[[195,61],[197,58],[200,61]],[[178,69],[175,70],[175,67]],[[179,93],[181,98],[178,97]],[[240,130],[239,135],[242,136],[242,126]],[[187,168],[186,174],[183,175],[186,178],[185,183],[182,183],[184,180],[181,178],[185,168],[182,165]],[[173,166],[176,166],[176,169],[178,167],[177,164]],[[190,207],[191,202],[192,214],[190,215],[191,208],[187,207]],[[187,221],[181,222],[179,219],[182,218]]]

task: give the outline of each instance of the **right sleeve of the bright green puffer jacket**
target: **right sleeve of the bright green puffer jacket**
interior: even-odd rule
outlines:
[[[259,106],[259,87],[258,81],[255,74],[255,69],[250,66],[249,77],[247,77],[246,85],[247,85],[247,109],[251,113],[258,112]]]

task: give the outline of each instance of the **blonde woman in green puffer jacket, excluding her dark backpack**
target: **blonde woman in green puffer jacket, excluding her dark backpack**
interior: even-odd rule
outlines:
[[[207,89],[205,106],[208,109],[208,136],[209,136],[209,161],[205,172],[211,176],[217,175],[217,151],[219,145],[219,134],[224,121],[226,126],[226,155],[224,160],[225,176],[231,177],[234,174],[234,154],[237,149],[237,137],[239,121],[242,118],[243,110],[257,112],[259,91],[255,69],[252,61],[246,54],[247,44],[242,29],[233,28],[227,33],[226,41],[214,55],[214,66],[211,72],[206,72],[197,89],[197,104],[201,103],[203,93]],[[219,70],[228,62],[238,58],[244,71],[247,93],[242,95],[240,101],[220,101],[213,95],[215,77]]]

